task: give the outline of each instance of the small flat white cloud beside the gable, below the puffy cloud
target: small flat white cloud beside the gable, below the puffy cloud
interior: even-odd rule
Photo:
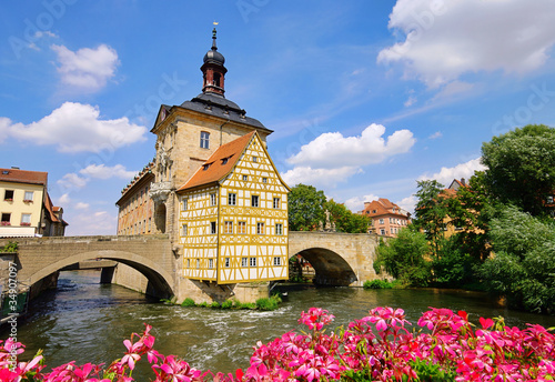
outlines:
[[[335,187],[346,181],[355,173],[362,172],[356,167],[342,167],[339,169],[312,169],[310,167],[296,167],[282,173],[282,178],[290,187],[299,183],[319,187]]]

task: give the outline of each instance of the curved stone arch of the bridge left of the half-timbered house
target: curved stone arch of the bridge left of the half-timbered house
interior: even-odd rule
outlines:
[[[172,285],[174,285],[173,278],[163,268],[148,258],[132,252],[117,250],[87,251],[65,257],[31,274],[29,284],[33,285],[43,278],[68,265],[91,259],[113,260],[141,272],[149,280],[149,286],[145,291],[148,294],[153,294],[158,298],[170,298],[174,295],[172,288]]]

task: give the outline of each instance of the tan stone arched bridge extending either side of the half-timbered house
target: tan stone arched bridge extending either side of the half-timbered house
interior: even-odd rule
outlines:
[[[364,281],[376,278],[373,260],[377,243],[374,234],[290,232],[289,254],[292,257],[300,253],[312,264],[317,284],[362,286]],[[2,244],[0,241],[0,245]],[[128,274],[127,279],[130,281],[123,284],[148,294],[159,298],[175,295],[178,300],[183,300],[195,289],[204,289],[204,295],[193,293],[195,301],[225,298],[218,285],[181,278],[183,260],[179,253],[173,252],[168,235],[19,239],[18,244],[17,255],[1,254],[3,261],[0,272],[3,274],[0,277],[3,279],[8,278],[9,261],[18,264],[20,282],[37,285],[74,263],[104,259],[137,271],[135,274]],[[108,279],[112,280],[110,275]],[[221,290],[226,291],[223,288]]]

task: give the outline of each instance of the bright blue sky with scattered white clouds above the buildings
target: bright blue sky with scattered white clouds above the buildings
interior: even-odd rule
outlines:
[[[470,178],[492,137],[555,125],[553,20],[554,0],[3,1],[0,167],[49,172],[67,234],[114,234],[218,21],[225,96],[274,130],[290,185],[412,210],[417,180]]]

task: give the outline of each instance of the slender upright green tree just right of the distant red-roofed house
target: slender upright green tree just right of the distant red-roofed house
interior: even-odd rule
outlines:
[[[444,185],[436,180],[417,182],[415,219],[413,225],[424,231],[432,244],[432,252],[437,255],[444,237],[447,219],[447,198],[443,194]]]

